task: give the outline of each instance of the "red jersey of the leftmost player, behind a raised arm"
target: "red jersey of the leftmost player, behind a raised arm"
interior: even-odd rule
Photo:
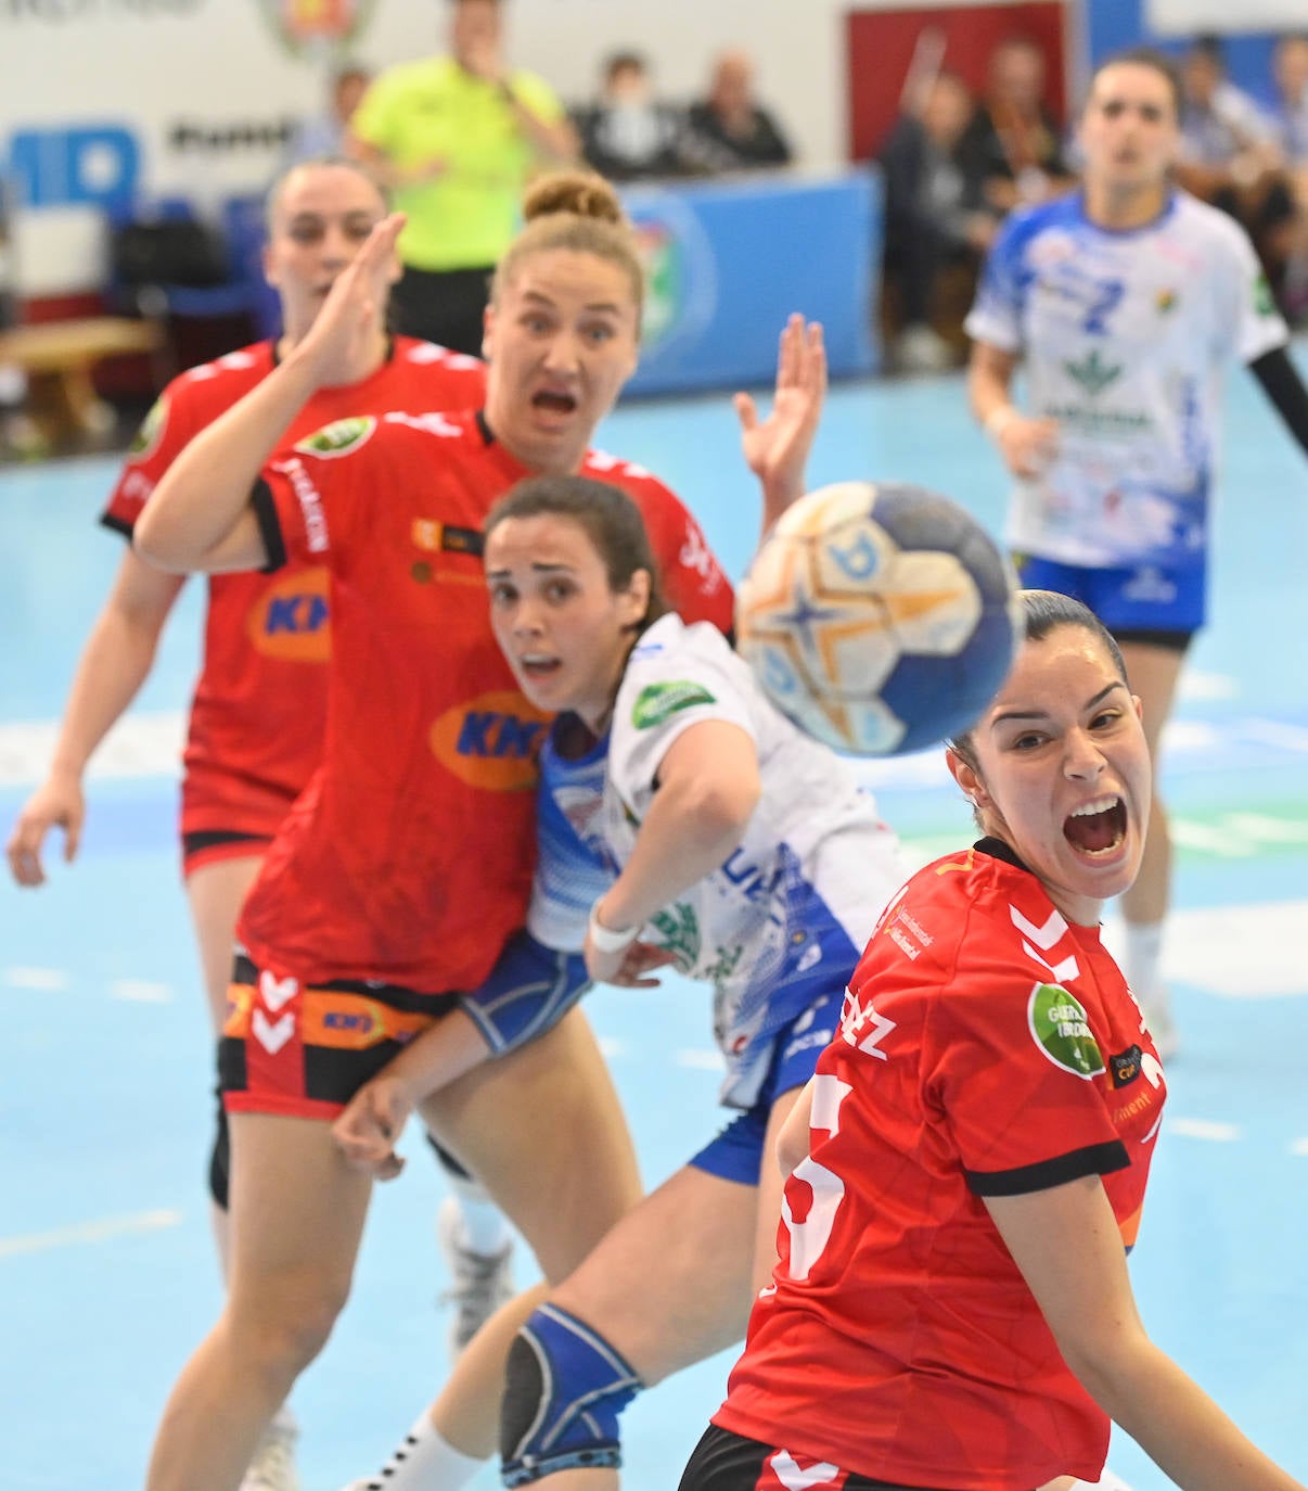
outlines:
[[[173,379],[137,432],[101,522],[131,535],[179,452],[273,367],[274,344],[259,341]],[[346,414],[477,409],[484,391],[486,367],[477,358],[396,337],[371,377],[319,389],[286,444]],[[317,564],[292,564],[276,576],[210,576],[185,753],[183,833],[271,838],[313,774],[326,713],[326,589]]]

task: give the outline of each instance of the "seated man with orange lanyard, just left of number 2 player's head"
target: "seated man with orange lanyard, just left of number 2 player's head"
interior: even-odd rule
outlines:
[[[1073,185],[1061,127],[1044,101],[1044,52],[1029,37],[1000,42],[986,69],[985,98],[958,145],[958,158],[982,183],[995,219]]]

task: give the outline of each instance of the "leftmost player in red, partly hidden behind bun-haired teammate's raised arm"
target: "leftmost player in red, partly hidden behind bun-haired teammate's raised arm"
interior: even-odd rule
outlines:
[[[282,303],[276,341],[241,347],[176,377],[136,435],[101,522],[131,538],[150,492],[188,441],[271,373],[308,331],[337,274],[386,215],[386,198],[356,163],[308,161],[289,170],[268,198],[265,271]],[[395,268],[398,274],[398,267]],[[361,410],[477,409],[486,368],[413,337],[387,337],[381,316],[349,382],[320,388],[288,440]],[[45,880],[42,851],[63,829],[72,860],[82,836],[86,765],[145,683],[182,589],[128,549],[86,641],[64,711],[49,775],[22,808],[9,839],[21,886]],[[326,571],[288,565],[276,576],[216,574],[209,580],[200,677],[191,707],[182,778],[182,853],[215,1032],[226,1018],[237,911],[288,808],[322,753],[329,652]],[[508,1232],[484,1197],[457,1175],[462,1217],[472,1218],[486,1255],[502,1255]],[[226,1252],[226,1133],[210,1164],[215,1232]],[[445,1221],[442,1212],[442,1223]],[[468,1254],[468,1267],[486,1272]],[[507,1255],[505,1255],[507,1257]],[[264,1479],[289,1457],[293,1424],[279,1419],[256,1457]],[[253,1475],[253,1472],[252,1472]],[[289,1484],[289,1482],[288,1482]]]

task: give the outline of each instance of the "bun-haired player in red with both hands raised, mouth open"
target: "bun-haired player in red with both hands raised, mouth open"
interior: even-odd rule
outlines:
[[[344,1302],[371,1181],[346,1166],[326,1121],[305,1120],[338,1112],[416,1029],[486,980],[523,924],[524,789],[541,717],[490,632],[481,517],[527,471],[599,470],[630,482],[650,511],[644,479],[588,452],[636,365],[635,236],[594,177],[542,180],[526,212],[487,313],[481,417],[347,422],[265,465],[304,400],[353,364],[399,230],[390,219],[301,346],[174,464],[137,528],[142,553],[171,568],[322,558],[335,649],[323,765],[238,926],[249,957],[222,1066],[232,1290],[173,1393],[150,1491],[231,1491]],[[821,359],[816,328],[787,335]],[[761,425],[742,410],[769,519],[801,489],[787,461],[815,417],[801,391],[781,392]],[[690,589],[702,614],[715,605],[724,622],[730,589],[697,532],[684,532],[696,534],[682,561],[693,561]],[[554,965],[541,963],[548,977]],[[425,1118],[512,1217],[547,1278],[569,1272],[639,1197],[617,1097],[575,1009],[436,1094]],[[484,1352],[490,1403],[505,1349]]]

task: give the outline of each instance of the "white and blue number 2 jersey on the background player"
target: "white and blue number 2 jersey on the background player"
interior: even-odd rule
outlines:
[[[1092,224],[1077,192],[1007,219],[967,332],[1025,361],[1058,453],[1017,482],[1017,553],[1186,564],[1208,541],[1222,373],[1287,341],[1244,230],[1186,192],[1149,227]]]

